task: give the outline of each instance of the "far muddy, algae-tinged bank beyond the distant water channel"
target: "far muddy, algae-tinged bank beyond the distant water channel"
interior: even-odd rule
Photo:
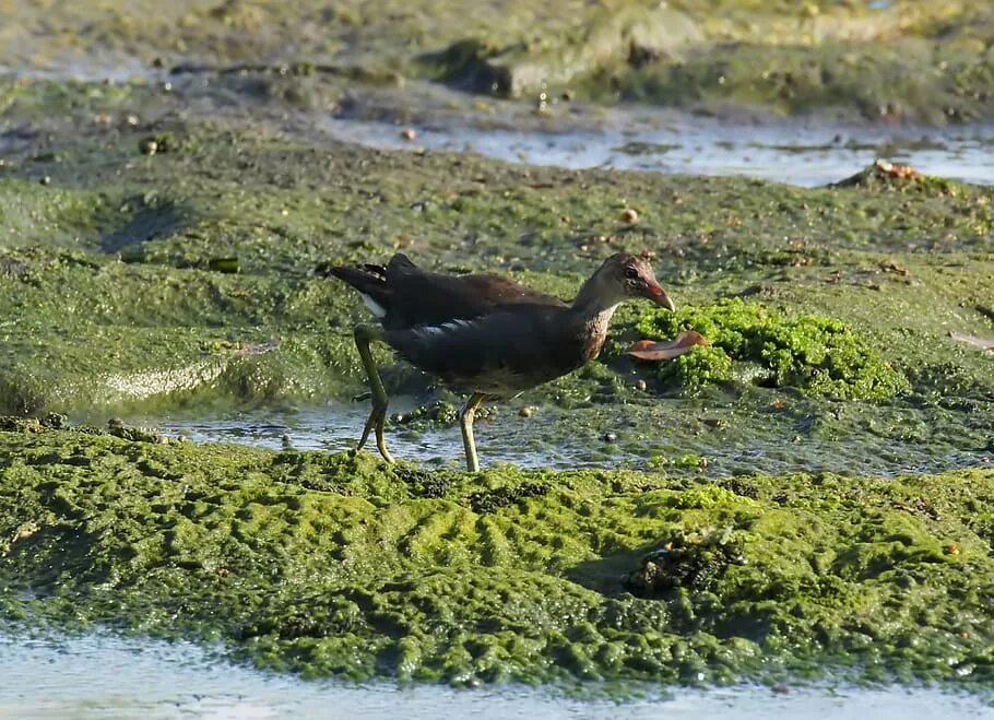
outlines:
[[[428,79],[539,111],[575,99],[726,114],[962,122],[992,117],[983,3],[510,0],[7,2],[0,67],[86,79],[284,68],[347,83]]]

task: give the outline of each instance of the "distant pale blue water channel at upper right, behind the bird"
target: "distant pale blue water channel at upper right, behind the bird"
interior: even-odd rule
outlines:
[[[411,126],[326,118],[318,128],[347,142],[387,150],[476,153],[531,165],[635,169],[682,175],[748,176],[800,186],[836,182],[877,157],[927,175],[994,182],[994,126],[960,129],[845,127],[803,122],[730,125],[666,113],[663,122],[615,119],[566,131],[486,128],[472,123]]]

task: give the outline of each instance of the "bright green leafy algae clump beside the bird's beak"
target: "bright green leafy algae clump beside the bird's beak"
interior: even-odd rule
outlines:
[[[653,310],[636,327],[652,339],[696,330],[710,341],[660,368],[661,381],[688,390],[732,379],[739,362],[759,364],[757,385],[796,387],[817,397],[884,399],[909,388],[901,373],[833,318],[786,318],[758,303],[727,298],[675,314]]]

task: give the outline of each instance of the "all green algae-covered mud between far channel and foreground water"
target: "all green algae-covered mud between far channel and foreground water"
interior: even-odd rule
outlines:
[[[0,401],[42,421],[0,437],[8,618],[220,641],[306,676],[991,685],[994,375],[949,338],[991,334],[990,189],[885,165],[802,189],[130,121],[152,93],[10,86],[27,130],[0,170]],[[91,120],[68,134],[50,107]],[[46,420],[346,402],[366,316],[313,275],[322,261],[403,249],[568,297],[620,247],[654,253],[686,309],[627,308],[597,363],[498,411],[519,435],[480,436],[636,470],[476,476]],[[624,355],[689,326],[721,371],[691,354],[677,382]],[[391,427],[454,436],[458,399],[380,359],[415,405]]]

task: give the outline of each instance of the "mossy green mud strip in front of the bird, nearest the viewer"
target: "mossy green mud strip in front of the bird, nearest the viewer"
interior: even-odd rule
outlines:
[[[76,430],[0,449],[8,618],[308,676],[994,681],[991,471],[477,476]],[[636,588],[667,552],[679,571]]]

